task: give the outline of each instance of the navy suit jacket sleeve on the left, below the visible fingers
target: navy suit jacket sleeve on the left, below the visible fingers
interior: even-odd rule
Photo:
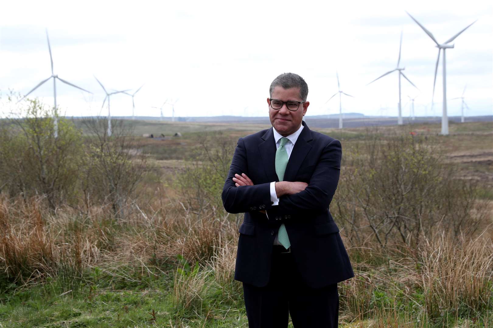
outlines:
[[[245,142],[240,138],[221,195],[224,209],[230,213],[244,213],[272,207],[270,182],[241,187],[235,186],[233,182],[235,174],[245,173],[250,176],[246,154]]]

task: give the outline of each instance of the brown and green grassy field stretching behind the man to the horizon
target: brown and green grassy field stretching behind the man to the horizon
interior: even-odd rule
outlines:
[[[80,121],[75,126],[89,133]],[[52,210],[42,196],[0,193],[0,328],[247,327],[241,284],[232,279],[242,217],[225,213],[219,195],[237,139],[267,127],[137,121],[126,151],[148,166],[116,213],[104,202],[84,207],[82,196]],[[356,277],[339,284],[340,327],[493,327],[492,123],[454,123],[450,136],[437,136],[439,124],[428,123],[316,130],[341,140],[346,165],[331,212]],[[182,137],[171,137],[176,132]],[[420,160],[436,165],[440,181],[450,177],[440,185],[458,189],[437,188],[431,202],[437,206],[420,216],[437,219],[419,239],[409,234],[402,241],[389,230],[382,245],[367,230],[363,210],[351,208],[351,183],[370,181],[348,177],[356,177],[358,160],[370,158],[368,145],[390,147],[395,140],[421,149]],[[388,149],[384,157],[393,154]],[[390,163],[393,156],[385,158]],[[409,170],[402,164],[399,172],[421,172],[422,162]],[[421,195],[431,194],[424,188]],[[416,204],[431,206],[426,202]],[[458,215],[450,202],[467,203],[467,212]],[[345,206],[358,224],[343,219]],[[456,225],[459,232],[447,230]]]

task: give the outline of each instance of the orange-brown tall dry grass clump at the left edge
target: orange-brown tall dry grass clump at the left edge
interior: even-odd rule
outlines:
[[[60,214],[57,224],[42,200],[32,198],[13,203],[0,197],[0,271],[7,278],[23,283],[60,270],[80,276],[99,260],[98,237],[91,230],[60,230],[67,216]]]

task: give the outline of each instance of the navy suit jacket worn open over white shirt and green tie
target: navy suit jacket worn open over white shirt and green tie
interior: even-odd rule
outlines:
[[[308,186],[297,194],[280,197],[277,206],[272,205],[270,196],[270,183],[279,181],[273,128],[238,140],[222,191],[226,211],[245,213],[240,226],[236,280],[257,287],[267,285],[274,238],[282,223],[294,262],[308,286],[325,287],[354,276],[339,228],[329,212],[339,181],[341,143],[311,131],[305,122],[303,125],[284,180],[302,181]],[[242,173],[254,185],[236,187],[232,178]],[[266,210],[267,215],[260,210]]]

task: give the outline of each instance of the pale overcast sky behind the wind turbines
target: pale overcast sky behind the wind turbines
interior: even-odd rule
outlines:
[[[159,116],[166,100],[178,101],[176,116],[267,116],[269,85],[283,72],[308,83],[307,115],[343,112],[397,115],[399,38],[401,67],[419,88],[401,79],[403,116],[408,96],[416,115],[440,115],[442,57],[435,106],[429,104],[438,50],[406,14],[439,42],[478,20],[448,49],[447,98],[464,87],[466,115],[493,114],[493,5],[491,1],[3,1],[0,10],[0,91],[26,94],[54,73],[94,92],[57,81],[57,103],[67,116],[106,115],[106,89],[143,88],[136,115]],[[53,83],[32,94],[53,104]],[[31,96],[30,95],[30,96]],[[171,116],[171,106],[164,115]],[[460,100],[448,102],[460,115]],[[0,110],[1,111],[1,110]],[[113,116],[131,116],[132,100],[111,96]],[[1,115],[1,113],[0,113]]]

